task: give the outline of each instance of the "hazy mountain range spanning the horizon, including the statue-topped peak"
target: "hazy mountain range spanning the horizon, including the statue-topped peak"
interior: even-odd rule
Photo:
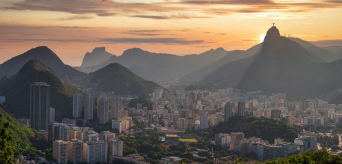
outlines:
[[[299,38],[282,37],[271,27],[263,43],[246,51],[218,48],[177,56],[133,48],[117,56],[98,47],[86,53],[76,68],[40,46],[0,64],[0,78],[6,81],[27,61],[38,59],[60,79],[91,92],[147,96],[159,86],[152,81],[179,79],[192,84],[188,89],[237,87],[245,92],[286,92],[289,98],[306,98],[342,87],[341,58],[342,46],[318,47]]]

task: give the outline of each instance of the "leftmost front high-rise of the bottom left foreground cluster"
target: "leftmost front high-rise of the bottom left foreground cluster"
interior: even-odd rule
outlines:
[[[56,140],[52,144],[52,157],[57,163],[67,163],[68,159],[68,142]]]

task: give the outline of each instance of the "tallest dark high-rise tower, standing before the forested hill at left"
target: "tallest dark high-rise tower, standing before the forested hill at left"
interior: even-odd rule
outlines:
[[[43,82],[31,84],[30,89],[30,127],[37,131],[47,131],[50,109],[50,85]]]

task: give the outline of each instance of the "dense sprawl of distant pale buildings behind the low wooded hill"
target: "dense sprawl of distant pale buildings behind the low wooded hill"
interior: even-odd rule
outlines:
[[[300,130],[332,128],[342,125],[342,105],[329,104],[317,98],[288,100],[286,94],[241,93],[237,89],[218,92],[185,91],[183,87],[166,86],[161,98],[152,98],[152,109],[137,106],[128,109],[132,117],[152,127],[166,127],[186,131],[204,130],[218,122],[227,122],[238,115],[273,118]]]

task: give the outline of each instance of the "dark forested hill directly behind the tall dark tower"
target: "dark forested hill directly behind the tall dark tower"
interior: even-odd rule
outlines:
[[[76,92],[82,93],[82,90],[62,81],[52,68],[38,60],[27,61],[13,77],[0,81],[0,95],[6,97],[8,112],[17,118],[30,118],[30,85],[37,81],[51,86],[50,106],[56,109],[56,120],[71,118],[72,96]]]

